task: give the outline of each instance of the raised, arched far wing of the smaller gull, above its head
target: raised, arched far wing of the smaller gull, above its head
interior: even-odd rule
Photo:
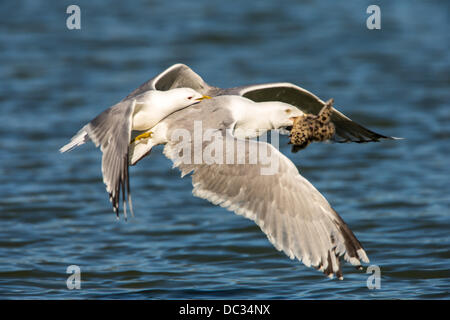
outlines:
[[[207,94],[209,90],[209,86],[191,68],[182,63],[177,63],[140,85],[124,100],[134,98],[148,90],[167,91],[174,88],[192,88],[202,94]]]

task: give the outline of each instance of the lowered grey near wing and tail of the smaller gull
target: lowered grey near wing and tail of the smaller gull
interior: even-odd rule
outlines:
[[[85,125],[69,142],[60,149],[69,151],[89,139],[100,146],[102,156],[103,182],[109,193],[114,212],[119,217],[120,195],[123,210],[127,217],[127,201],[133,213],[131,203],[130,180],[128,175],[128,146],[131,139],[132,117],[136,100],[119,102],[103,111],[94,120]]]

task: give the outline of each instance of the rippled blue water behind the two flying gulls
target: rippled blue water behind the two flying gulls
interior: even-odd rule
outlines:
[[[0,298],[448,299],[450,50],[445,1],[71,1],[0,4]],[[250,220],[191,195],[153,152],[116,221],[92,144],[59,147],[166,67],[209,83],[289,81],[402,141],[281,151],[381,268],[330,280]],[[66,269],[81,268],[68,290]]]

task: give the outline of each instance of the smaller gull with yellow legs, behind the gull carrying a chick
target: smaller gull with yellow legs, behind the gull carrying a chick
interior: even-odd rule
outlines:
[[[92,140],[96,147],[100,146],[103,153],[103,182],[109,193],[109,200],[118,218],[120,194],[122,193],[126,219],[127,201],[130,211],[134,215],[128,175],[128,149],[132,131],[150,129],[172,112],[209,98],[192,88],[141,92],[133,97],[123,99],[100,113],[81,128],[71,141],[59,151],[67,152],[89,140]],[[145,132],[136,136],[133,141],[151,137],[151,134],[151,131]]]

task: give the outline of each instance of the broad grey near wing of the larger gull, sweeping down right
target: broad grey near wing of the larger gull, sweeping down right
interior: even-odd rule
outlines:
[[[224,131],[216,139],[214,143],[222,146],[241,143],[240,150],[245,145],[245,161],[241,158],[244,164],[185,163],[186,150],[192,155],[199,151],[205,154],[208,143],[201,145],[202,150],[191,141],[171,141],[164,148],[164,154],[181,170],[182,176],[193,172],[195,196],[253,220],[278,250],[328,276],[337,275],[342,279],[340,257],[356,266],[361,265],[361,260],[369,262],[355,235],[327,200],[272,145],[239,140]],[[267,154],[266,159],[270,161],[260,157],[251,162],[250,150],[255,150],[252,148]],[[224,150],[217,154],[220,153],[226,154]],[[242,156],[242,153],[234,154]],[[233,163],[239,163],[234,160]],[[274,165],[277,167],[274,172],[267,171]]]

